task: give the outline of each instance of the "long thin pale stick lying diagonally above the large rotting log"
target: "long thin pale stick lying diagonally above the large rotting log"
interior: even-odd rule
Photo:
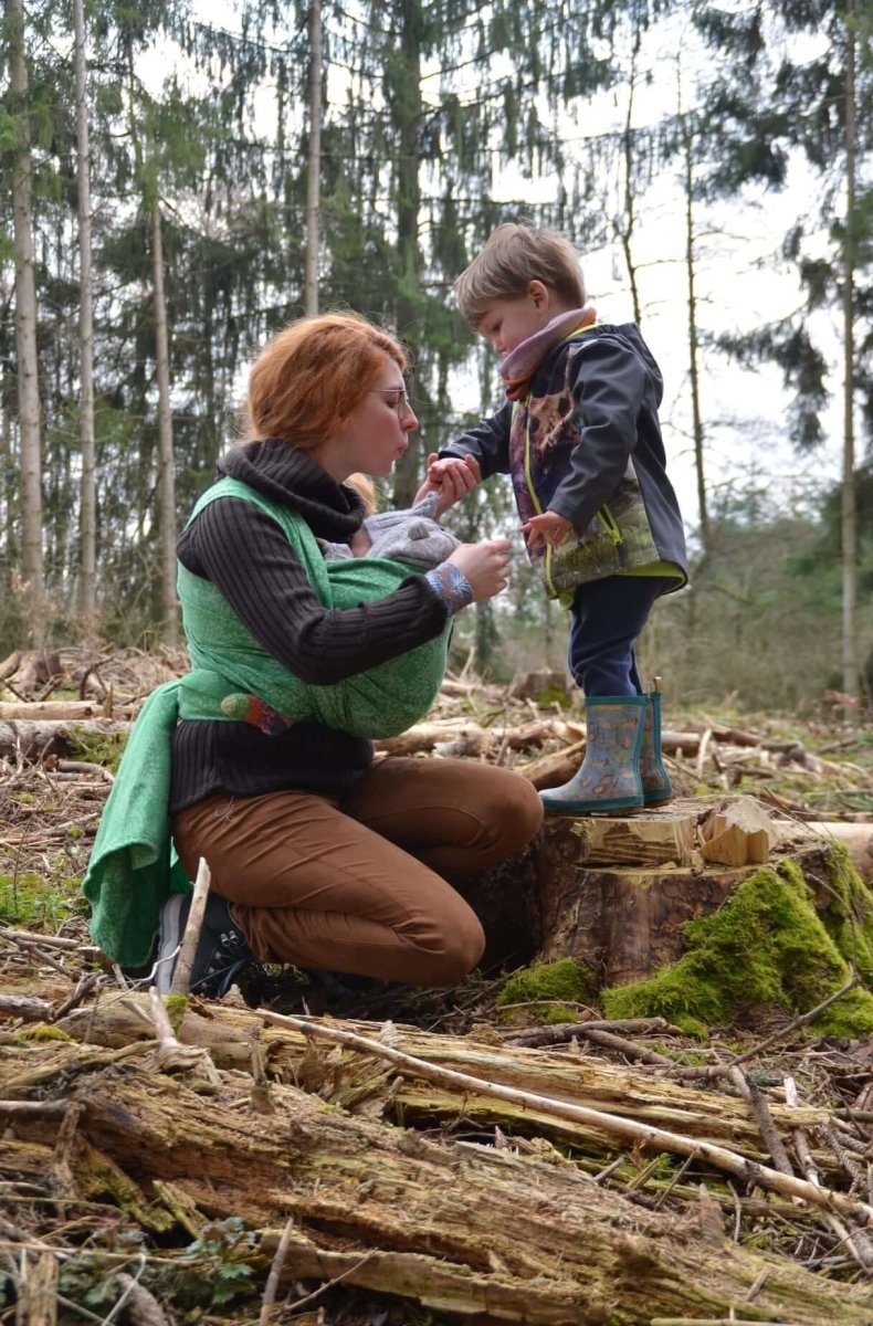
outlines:
[[[364,1054],[374,1054],[378,1058],[387,1059],[395,1066],[401,1077],[421,1078],[440,1085],[462,1087],[464,1091],[475,1095],[511,1101],[513,1105],[523,1105],[541,1114],[548,1114],[551,1118],[569,1119],[573,1123],[584,1123],[589,1127],[601,1128],[614,1136],[629,1138],[641,1147],[671,1151],[677,1155],[693,1155],[697,1151],[701,1160],[735,1175],[743,1183],[756,1183],[762,1188],[771,1188],[787,1197],[801,1197],[812,1205],[840,1211],[860,1225],[873,1225],[873,1207],[866,1203],[828,1188],[817,1188],[815,1184],[792,1175],[780,1174],[777,1170],[758,1164],[739,1155],[736,1151],[728,1151],[726,1147],[715,1146],[711,1142],[695,1142],[694,1138],[669,1132],[666,1128],[637,1123],[636,1119],[620,1118],[601,1110],[592,1110],[588,1106],[573,1105],[569,1101],[556,1101],[552,1097],[536,1095],[532,1091],[521,1091],[517,1087],[504,1086],[503,1083],[487,1082],[468,1073],[438,1067],[411,1054],[405,1054],[391,1046],[371,1041],[364,1036],[357,1036],[354,1032],[346,1032],[338,1026],[317,1026],[314,1022],[304,1018],[285,1017],[280,1013],[271,1013],[267,1009],[259,1009],[257,1016],[271,1026],[292,1028],[304,1036],[321,1037],[326,1041],[334,1041],[338,1045],[349,1045]]]

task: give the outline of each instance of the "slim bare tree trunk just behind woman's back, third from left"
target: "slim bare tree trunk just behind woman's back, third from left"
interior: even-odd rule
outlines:
[[[172,473],[172,411],[170,408],[170,349],[167,305],[163,293],[163,240],[161,202],[155,190],[151,204],[151,261],[155,304],[155,371],[158,377],[158,530],[161,540],[161,615],[163,639],[176,644],[176,513]]]

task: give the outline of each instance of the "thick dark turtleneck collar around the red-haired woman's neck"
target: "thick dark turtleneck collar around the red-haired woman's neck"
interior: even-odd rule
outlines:
[[[348,542],[364,522],[364,501],[353,488],[338,484],[308,452],[277,438],[232,447],[219,460],[218,472],[300,512],[317,538]]]

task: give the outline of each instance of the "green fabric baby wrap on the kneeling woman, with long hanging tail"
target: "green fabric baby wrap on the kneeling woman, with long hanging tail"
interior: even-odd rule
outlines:
[[[279,522],[325,607],[354,607],[393,593],[413,568],[391,558],[325,562],[301,516],[235,479],[207,489],[191,518],[218,497],[240,497]],[[444,672],[451,619],[434,640],[346,678],[309,686],[277,663],[231,610],[220,591],[179,566],[182,617],[191,671],[151,692],[130,732],[101,815],[84,880],[92,935],[123,967],[150,961],[161,907],[191,884],[171,841],[170,776],[176,723],[234,721],[222,700],[257,695],[292,721],[317,721],[356,736],[394,736],[433,704]]]

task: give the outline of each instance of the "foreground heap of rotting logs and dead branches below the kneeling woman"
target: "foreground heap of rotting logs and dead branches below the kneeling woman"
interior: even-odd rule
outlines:
[[[167,1022],[93,956],[0,931],[0,1273],[25,1305],[48,1282],[168,1322],[195,1258],[212,1319],[219,1288],[234,1321],[325,1293],[387,1296],[382,1321],[870,1319],[862,1046],[740,1059],[657,1020],[447,1036],[232,997]]]

